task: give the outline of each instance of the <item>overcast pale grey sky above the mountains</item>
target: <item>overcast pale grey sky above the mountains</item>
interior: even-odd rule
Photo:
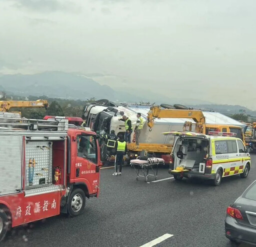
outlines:
[[[255,8],[255,0],[0,0],[0,73],[79,71],[112,87],[256,109]]]

